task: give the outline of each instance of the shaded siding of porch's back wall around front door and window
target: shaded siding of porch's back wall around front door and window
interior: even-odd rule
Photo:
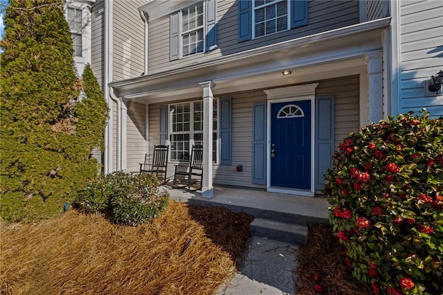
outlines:
[[[285,85],[288,86],[288,85]],[[359,131],[359,76],[336,78],[320,81],[316,89],[317,95],[333,94],[335,99],[335,145],[350,132]],[[232,164],[213,165],[215,184],[230,186],[246,186],[263,188],[252,183],[252,147],[253,147],[253,104],[266,102],[263,89],[224,93],[219,98],[232,98]],[[199,99],[199,98],[196,98]],[[174,103],[174,102],[172,102]],[[154,145],[160,141],[160,107],[163,104],[149,105],[150,154]],[[128,111],[129,112],[129,111]],[[141,115],[141,113],[140,113]],[[140,121],[143,121],[140,117]],[[128,123],[129,124],[129,123]],[[129,125],[128,125],[129,127]],[[128,134],[129,142],[129,134]],[[129,153],[129,150],[128,150]],[[140,159],[143,159],[141,157]],[[177,163],[175,163],[177,164]],[[242,165],[242,172],[236,171],[236,166]],[[129,156],[128,156],[129,167]],[[133,167],[133,169],[135,166]],[[138,169],[138,168],[137,168]],[[129,170],[129,168],[128,168]],[[168,177],[174,175],[174,163],[168,167]]]

